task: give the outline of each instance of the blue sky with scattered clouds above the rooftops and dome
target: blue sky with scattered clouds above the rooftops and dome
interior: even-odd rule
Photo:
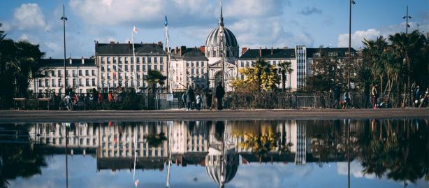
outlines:
[[[429,31],[428,0],[354,0],[351,45],[363,38],[405,31],[406,7],[411,28]],[[135,43],[165,44],[163,19],[168,17],[170,48],[204,45],[217,28],[219,0],[40,0],[2,1],[0,27],[7,37],[39,44],[46,57],[64,56],[63,4],[66,17],[66,56],[94,55],[94,42],[128,43],[136,26]],[[348,0],[223,0],[225,27],[241,48],[347,47]]]

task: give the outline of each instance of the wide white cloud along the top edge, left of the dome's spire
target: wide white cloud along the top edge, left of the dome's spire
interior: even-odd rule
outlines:
[[[87,24],[132,25],[143,28],[163,26],[164,15],[170,24],[201,24],[215,18],[209,0],[71,0],[73,13]]]

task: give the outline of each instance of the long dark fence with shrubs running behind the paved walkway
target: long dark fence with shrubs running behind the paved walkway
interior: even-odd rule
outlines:
[[[111,100],[109,99],[109,93],[101,93],[100,95],[98,93],[76,93],[73,96],[73,110],[165,110],[186,108],[186,104],[182,101],[182,94],[174,93],[173,101],[168,101],[166,93],[112,93]],[[24,106],[29,110],[58,110],[61,107],[59,106],[61,96],[64,96],[64,94],[30,94],[25,98]],[[348,108],[372,107],[370,96],[365,96],[361,93],[351,93],[350,96],[351,100]],[[208,99],[205,99],[205,97],[202,97],[202,99],[201,108],[208,108],[208,106],[205,106],[205,101]],[[378,103],[382,108],[400,107],[402,99],[402,96],[396,98],[381,96]],[[335,103],[333,94],[329,92],[228,92],[223,100],[224,108],[230,109],[341,108],[342,105],[344,106],[342,102],[337,101]],[[213,95],[211,107],[215,108],[215,104],[216,99]]]

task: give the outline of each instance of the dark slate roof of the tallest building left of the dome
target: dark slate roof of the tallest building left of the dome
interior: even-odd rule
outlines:
[[[162,44],[134,43],[136,55],[166,55]],[[96,43],[96,55],[133,55],[131,43]]]

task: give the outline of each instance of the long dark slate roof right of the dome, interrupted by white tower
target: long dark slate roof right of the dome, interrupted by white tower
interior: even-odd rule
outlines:
[[[272,54],[271,54],[272,50]],[[307,48],[307,58],[312,58],[317,52],[328,53],[337,52],[338,57],[346,57],[346,52],[349,52],[349,48]],[[282,49],[261,49],[263,59],[286,59],[295,58],[295,48],[282,48]],[[351,52],[355,52],[354,48],[351,48]],[[238,59],[256,59],[259,57],[259,49],[248,49]]]

